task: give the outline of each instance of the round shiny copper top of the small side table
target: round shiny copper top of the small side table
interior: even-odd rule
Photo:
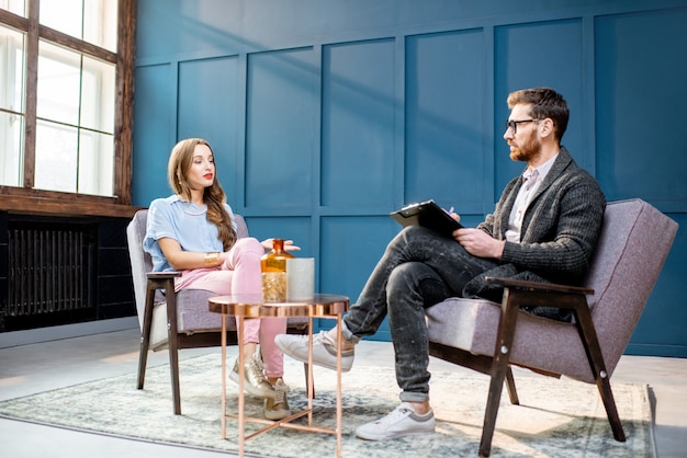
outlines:
[[[244,318],[327,317],[348,310],[346,296],[316,294],[309,299],[263,302],[262,295],[215,296],[207,300],[210,311]]]

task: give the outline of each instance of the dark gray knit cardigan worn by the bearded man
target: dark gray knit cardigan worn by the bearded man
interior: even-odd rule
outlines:
[[[506,185],[496,208],[478,229],[505,240],[508,217],[522,184],[517,176]],[[484,277],[514,277],[532,282],[577,284],[587,272],[598,240],[606,197],[597,181],[577,167],[565,147],[554,161],[526,210],[520,243],[506,241],[498,266],[473,278],[464,297],[500,301],[503,289],[484,283]],[[537,308],[531,312],[570,320],[570,316]]]

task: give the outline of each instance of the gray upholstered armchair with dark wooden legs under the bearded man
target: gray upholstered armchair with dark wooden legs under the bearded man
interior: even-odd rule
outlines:
[[[480,456],[492,447],[506,382],[518,404],[511,365],[598,387],[617,440],[624,432],[610,377],[642,314],[677,232],[677,224],[641,199],[609,203],[582,287],[492,278],[502,304],[451,298],[428,309],[432,356],[489,375]],[[574,323],[534,317],[522,306],[571,309]]]

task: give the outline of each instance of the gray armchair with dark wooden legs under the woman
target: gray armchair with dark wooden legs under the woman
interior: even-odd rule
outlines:
[[[143,250],[148,210],[138,210],[126,228],[128,254],[132,264],[134,295],[140,325],[138,356],[138,389],[143,389],[148,351],[169,348],[173,409],[181,414],[179,388],[179,356],[182,348],[219,346],[222,316],[207,309],[207,299],[216,294],[204,289],[182,289],[174,293],[178,272],[151,272],[150,255]],[[237,236],[248,237],[246,221],[235,215]],[[165,294],[162,294],[165,291]],[[236,322],[227,322],[227,343],[237,343]],[[289,318],[288,332],[306,333],[307,318]]]

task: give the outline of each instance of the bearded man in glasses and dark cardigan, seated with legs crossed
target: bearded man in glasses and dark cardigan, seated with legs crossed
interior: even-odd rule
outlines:
[[[567,103],[551,89],[534,88],[510,93],[508,107],[504,139],[510,158],[527,167],[508,183],[494,213],[476,228],[455,230],[452,238],[417,226],[403,229],[344,318],[342,367],[350,370],[356,343],[374,334],[388,316],[402,389],[401,404],[359,426],[358,437],[382,440],[433,432],[426,308],[457,296],[500,301],[503,288],[486,284],[487,276],[575,285],[587,272],[606,198],[597,181],[561,146]],[[548,308],[528,311],[571,320],[568,313]],[[315,336],[314,364],[336,368],[337,335],[335,328]],[[307,337],[280,334],[275,343],[307,362]]]

